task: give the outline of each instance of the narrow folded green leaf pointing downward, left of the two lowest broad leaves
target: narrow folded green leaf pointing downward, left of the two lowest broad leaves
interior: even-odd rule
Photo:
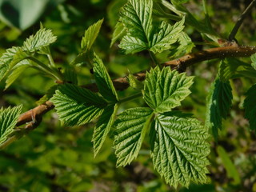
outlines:
[[[101,117],[98,119],[97,125],[94,128],[94,135],[92,142],[94,142],[94,157],[102,148],[107,134],[114,123],[115,114],[117,113],[118,105],[106,106]]]

